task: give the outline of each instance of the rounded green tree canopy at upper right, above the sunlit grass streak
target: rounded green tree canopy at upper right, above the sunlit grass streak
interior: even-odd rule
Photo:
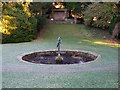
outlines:
[[[114,16],[113,2],[93,3],[83,12],[86,25],[106,29]]]

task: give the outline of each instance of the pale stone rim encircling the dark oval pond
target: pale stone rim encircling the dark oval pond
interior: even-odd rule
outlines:
[[[27,54],[32,54],[32,53],[37,53],[37,52],[47,52],[47,51],[57,51],[57,50],[37,50],[37,51],[31,51],[31,52],[27,52],[27,53],[23,53],[19,56],[17,56],[17,59],[22,61],[22,62],[25,62],[25,63],[28,63],[28,64],[36,64],[36,63],[31,63],[31,62],[27,62],[25,60],[22,59],[23,56],[27,55]],[[92,54],[94,56],[97,56],[97,58],[93,61],[90,61],[90,62],[85,62],[83,64],[87,64],[87,63],[91,63],[91,62],[95,62],[97,60],[100,60],[101,59],[101,55],[95,53],[95,52],[92,52],[92,51],[85,51],[85,50],[70,50],[70,49],[64,49],[64,50],[61,50],[62,51],[76,51],[76,52],[84,52],[84,53],[89,53],[89,54]],[[39,64],[39,65],[59,65],[59,64]],[[65,64],[62,64],[62,65],[65,65]],[[68,65],[76,65],[76,64],[68,64]],[[77,64],[78,65],[78,64]]]

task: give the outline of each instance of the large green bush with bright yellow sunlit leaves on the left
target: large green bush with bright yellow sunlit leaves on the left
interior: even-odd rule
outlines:
[[[28,6],[29,3],[3,3],[2,43],[31,41],[37,36],[37,20]]]

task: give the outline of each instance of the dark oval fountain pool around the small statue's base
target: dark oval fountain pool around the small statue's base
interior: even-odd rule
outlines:
[[[60,51],[60,55],[63,61],[58,63],[55,60],[58,53],[59,52],[56,50],[35,51],[24,53],[18,56],[18,59],[36,64],[81,64],[95,61],[100,58],[100,55],[90,51],[62,50]]]

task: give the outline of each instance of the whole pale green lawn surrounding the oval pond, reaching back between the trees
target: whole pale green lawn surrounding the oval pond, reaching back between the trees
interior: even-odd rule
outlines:
[[[88,30],[84,25],[51,24],[41,31],[37,40],[1,45],[2,87],[118,88],[119,45],[106,43],[110,37],[104,39],[98,35],[104,33],[96,29]],[[101,59],[72,65],[42,65],[17,60],[22,53],[56,49],[59,36],[62,37],[62,49],[96,52]]]

